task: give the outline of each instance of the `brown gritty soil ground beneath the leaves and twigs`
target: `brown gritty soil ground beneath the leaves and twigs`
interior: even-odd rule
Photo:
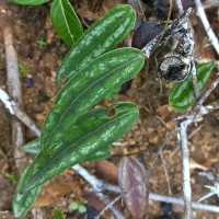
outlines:
[[[105,11],[118,3],[126,3],[122,0],[82,0],[71,1],[78,12],[83,25],[91,25]],[[130,2],[130,1],[129,1]],[[188,2],[188,1],[186,1]],[[11,3],[9,0],[0,1],[0,88],[7,90],[7,68],[3,32],[4,26],[11,27],[13,32],[13,43],[18,53],[19,64],[26,69],[21,72],[22,100],[24,112],[42,127],[43,120],[53,106],[53,102],[58,92],[57,71],[67,54],[69,47],[56,35],[50,16],[49,3],[39,7],[21,7]],[[154,9],[151,8],[150,16],[158,19]],[[207,10],[208,19],[216,35],[219,35],[217,8]],[[195,58],[197,60],[215,59],[218,57],[211,46],[208,45],[206,33],[199,19],[194,14],[191,19],[195,39]],[[130,44],[130,37],[125,42]],[[45,42],[45,45],[41,43]],[[206,46],[207,45],[207,46]],[[216,70],[215,70],[216,71]],[[214,73],[210,82],[214,80]],[[209,82],[209,84],[210,84]],[[170,92],[168,83],[157,76],[153,61],[146,74],[143,69],[129,85],[124,87],[123,92],[116,101],[131,101],[140,108],[140,118],[137,125],[122,139],[119,147],[112,148],[112,158],[106,161],[95,163],[83,163],[92,174],[105,182],[117,184],[117,166],[124,155],[138,158],[145,168],[149,170],[151,193],[169,195],[169,185],[173,197],[182,197],[182,174],[181,174],[181,151],[177,137],[173,132],[173,118],[176,113],[168,105],[168,94]],[[162,87],[162,93],[161,93]],[[218,100],[219,88],[217,88],[208,99],[208,102]],[[110,105],[115,100],[105,100],[101,104]],[[14,218],[12,214],[12,197],[19,177],[13,154],[13,143],[11,134],[11,120],[14,119],[0,102],[0,218]],[[23,127],[25,142],[35,139],[36,136]],[[219,112],[211,113],[196,126],[188,129],[188,145],[191,150],[191,173],[194,201],[208,193],[205,185],[212,185],[219,174]],[[165,138],[168,136],[168,141]],[[163,163],[160,158],[153,163],[159,149],[163,147],[162,153],[168,170],[170,184],[166,182]],[[27,158],[32,158],[26,154]],[[111,198],[116,197],[110,194]],[[79,214],[69,209],[72,201],[87,206],[88,214]],[[219,205],[217,196],[212,196],[205,204]],[[99,200],[91,186],[71,169],[66,170],[60,175],[47,182],[35,204],[39,208],[43,218],[54,218],[54,209],[61,208],[67,218],[92,218],[91,215],[104,208],[104,204]],[[127,209],[117,204],[126,218],[131,218]],[[30,211],[26,218],[42,218],[33,216]],[[196,218],[216,219],[217,214],[194,210]],[[89,217],[88,217],[89,215]],[[146,218],[182,218],[183,208],[177,205],[166,203],[149,201]],[[110,210],[103,218],[113,218]]]

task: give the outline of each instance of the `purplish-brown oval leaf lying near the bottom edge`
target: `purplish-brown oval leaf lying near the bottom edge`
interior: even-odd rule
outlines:
[[[124,158],[118,168],[118,184],[132,218],[142,218],[149,197],[149,177],[146,169],[136,159]]]

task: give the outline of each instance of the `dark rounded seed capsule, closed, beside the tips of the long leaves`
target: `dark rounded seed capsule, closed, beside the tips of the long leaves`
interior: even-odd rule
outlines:
[[[158,34],[164,30],[163,25],[155,21],[148,21],[140,25],[132,38],[132,47],[143,48],[150,41],[152,41]]]

